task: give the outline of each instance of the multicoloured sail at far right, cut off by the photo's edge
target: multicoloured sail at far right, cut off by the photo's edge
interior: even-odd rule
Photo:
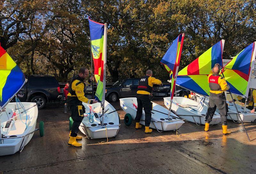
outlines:
[[[256,55],[255,43],[248,45],[224,67],[223,74],[233,94],[248,97]]]

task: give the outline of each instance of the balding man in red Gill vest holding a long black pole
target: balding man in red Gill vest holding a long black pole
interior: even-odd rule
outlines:
[[[212,121],[212,117],[216,110],[216,107],[220,110],[220,119],[223,129],[223,134],[231,133],[228,131],[228,123],[227,123],[227,116],[228,116],[228,106],[226,102],[226,96],[224,91],[229,89],[229,86],[225,80],[225,78],[220,76],[220,65],[215,64],[212,68],[212,73],[208,76],[208,83],[210,87],[210,96],[209,96],[209,104],[207,115],[205,119],[205,128],[204,131],[209,130],[209,124]]]

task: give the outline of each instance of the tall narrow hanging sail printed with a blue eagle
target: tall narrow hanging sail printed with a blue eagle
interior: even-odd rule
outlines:
[[[103,42],[104,42],[104,24],[95,22],[89,17],[91,52],[94,63],[94,77],[97,82],[97,90],[95,98],[102,101],[103,96],[103,79],[104,79],[104,58],[103,58]]]

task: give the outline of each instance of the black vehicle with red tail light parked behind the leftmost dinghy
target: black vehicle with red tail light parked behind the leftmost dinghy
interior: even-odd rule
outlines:
[[[58,81],[49,75],[32,75],[20,89],[17,96],[21,102],[35,102],[38,109],[44,108],[46,102],[61,98]]]

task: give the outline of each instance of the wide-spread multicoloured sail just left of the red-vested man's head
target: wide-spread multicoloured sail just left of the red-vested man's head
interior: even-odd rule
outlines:
[[[209,96],[208,75],[215,64],[218,63],[223,67],[222,53],[224,44],[225,40],[221,40],[183,68],[178,74],[176,84],[197,94]]]

